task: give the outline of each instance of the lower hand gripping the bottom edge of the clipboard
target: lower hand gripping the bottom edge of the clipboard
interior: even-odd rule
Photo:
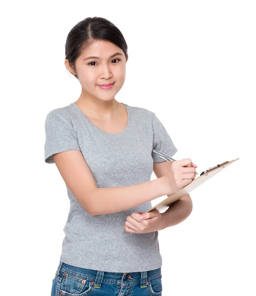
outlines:
[[[144,216],[146,218],[142,218]],[[154,209],[153,211],[143,213],[143,212],[133,212],[131,216],[126,218],[124,224],[126,232],[131,233],[147,233],[164,229],[162,214]]]

